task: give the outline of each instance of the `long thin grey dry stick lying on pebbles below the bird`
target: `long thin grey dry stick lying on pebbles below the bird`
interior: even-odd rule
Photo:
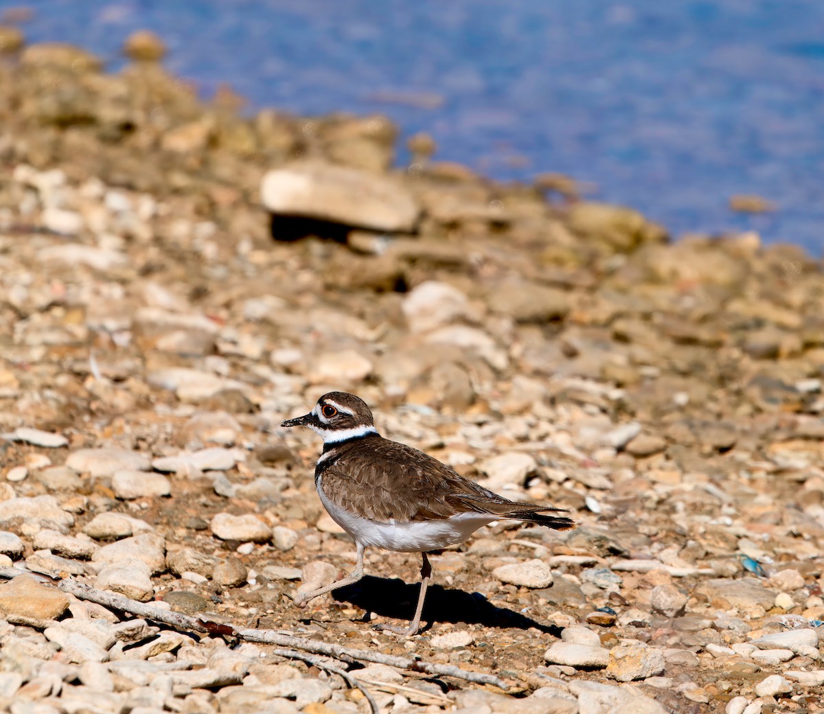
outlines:
[[[277,630],[256,630],[252,628],[235,628],[231,625],[209,622],[190,615],[172,613],[153,607],[150,604],[140,603],[137,600],[129,600],[123,595],[97,590],[91,586],[68,578],[59,584],[60,590],[68,592],[81,600],[91,600],[97,604],[104,605],[116,610],[138,615],[142,618],[149,618],[156,622],[166,623],[176,628],[195,630],[197,632],[209,632],[211,634],[224,635],[226,637],[240,637],[246,642],[261,642],[268,645],[281,647],[291,647],[295,650],[311,652],[316,655],[334,657],[336,660],[376,662],[380,665],[397,667],[399,670],[412,670],[423,674],[437,674],[441,677],[454,677],[464,679],[473,684],[492,684],[501,689],[507,689],[509,685],[494,676],[483,672],[470,672],[461,670],[455,665],[438,665],[434,662],[425,662],[413,657],[400,657],[396,655],[384,655],[381,652],[371,650],[355,650],[350,647],[335,645],[332,642],[322,642],[321,640],[304,640],[301,637],[284,634]]]

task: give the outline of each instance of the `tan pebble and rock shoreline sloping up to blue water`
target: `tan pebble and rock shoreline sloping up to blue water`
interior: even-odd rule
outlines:
[[[384,712],[822,711],[820,262],[754,234],[671,243],[426,137],[393,169],[387,119],[204,104],[151,37],[106,74],[6,32],[0,708],[368,712],[272,646],[48,576],[510,684],[350,664]],[[578,528],[434,555],[409,642],[369,622],[409,617],[416,555],[368,553],[373,577],[295,609],[354,558],[316,438],[279,427],[331,389]]]

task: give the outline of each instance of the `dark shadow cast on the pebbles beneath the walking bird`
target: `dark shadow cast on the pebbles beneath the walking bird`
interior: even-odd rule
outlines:
[[[354,585],[332,591],[335,600],[344,601],[386,618],[411,620],[418,603],[420,586],[409,585],[397,578],[363,576]],[[421,620],[432,623],[480,624],[487,628],[537,628],[555,637],[561,628],[539,623],[508,608],[499,608],[480,593],[452,590],[439,585],[429,586]]]

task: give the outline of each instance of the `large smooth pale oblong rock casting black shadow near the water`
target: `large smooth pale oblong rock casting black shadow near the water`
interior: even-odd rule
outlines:
[[[301,161],[269,171],[260,185],[269,211],[372,231],[412,231],[420,209],[403,184],[386,175]]]

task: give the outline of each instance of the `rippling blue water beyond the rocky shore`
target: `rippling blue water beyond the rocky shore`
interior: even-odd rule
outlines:
[[[26,4],[29,40],[112,68],[149,28],[204,96],[228,82],[253,107],[382,112],[431,133],[436,158],[501,180],[573,175],[675,235],[751,229],[824,249],[822,0]],[[737,215],[732,194],[779,210]]]

